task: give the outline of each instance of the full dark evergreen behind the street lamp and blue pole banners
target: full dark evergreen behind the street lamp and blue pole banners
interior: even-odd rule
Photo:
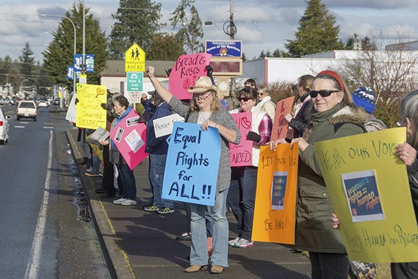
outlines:
[[[94,54],[94,73],[87,73],[88,84],[99,84],[98,73],[104,68],[109,53],[107,52],[107,40],[105,33],[100,30],[100,22],[93,14],[86,12],[86,54]],[[74,3],[72,10],[65,13],[65,17],[70,18],[75,24],[77,35],[77,54],[82,54],[83,37],[83,3]],[[59,27],[52,34],[54,39],[49,43],[47,50],[42,52],[44,55],[43,70],[47,73],[49,80],[54,84],[61,84],[72,88],[72,80],[67,79],[67,66],[74,64],[74,28],[71,22],[63,17]]]

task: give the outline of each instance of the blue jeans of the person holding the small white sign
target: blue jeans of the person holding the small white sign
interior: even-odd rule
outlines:
[[[162,199],[162,181],[164,181],[164,169],[167,154],[150,154],[150,186],[153,190],[153,204],[159,209],[168,207],[173,209],[174,202],[170,199]]]

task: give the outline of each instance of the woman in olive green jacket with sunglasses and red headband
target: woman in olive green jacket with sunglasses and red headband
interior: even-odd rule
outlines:
[[[291,141],[300,150],[295,249],[309,252],[313,279],[346,279],[348,255],[340,232],[332,229],[334,209],[313,143],[364,133],[368,116],[353,104],[346,83],[332,70],[316,75],[309,95],[314,103],[311,122],[303,137]],[[275,150],[281,143],[286,141],[271,142],[270,148]]]

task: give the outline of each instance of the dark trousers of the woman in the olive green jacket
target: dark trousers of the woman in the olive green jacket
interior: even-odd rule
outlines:
[[[347,254],[309,252],[312,279],[347,279],[350,262]]]

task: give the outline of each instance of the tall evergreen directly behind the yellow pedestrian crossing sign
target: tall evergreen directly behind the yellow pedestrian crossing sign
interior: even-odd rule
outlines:
[[[125,52],[137,43],[148,52],[153,35],[166,24],[160,23],[161,3],[150,0],[120,0],[110,32],[110,59],[125,59]],[[169,47],[169,46],[167,46]]]

